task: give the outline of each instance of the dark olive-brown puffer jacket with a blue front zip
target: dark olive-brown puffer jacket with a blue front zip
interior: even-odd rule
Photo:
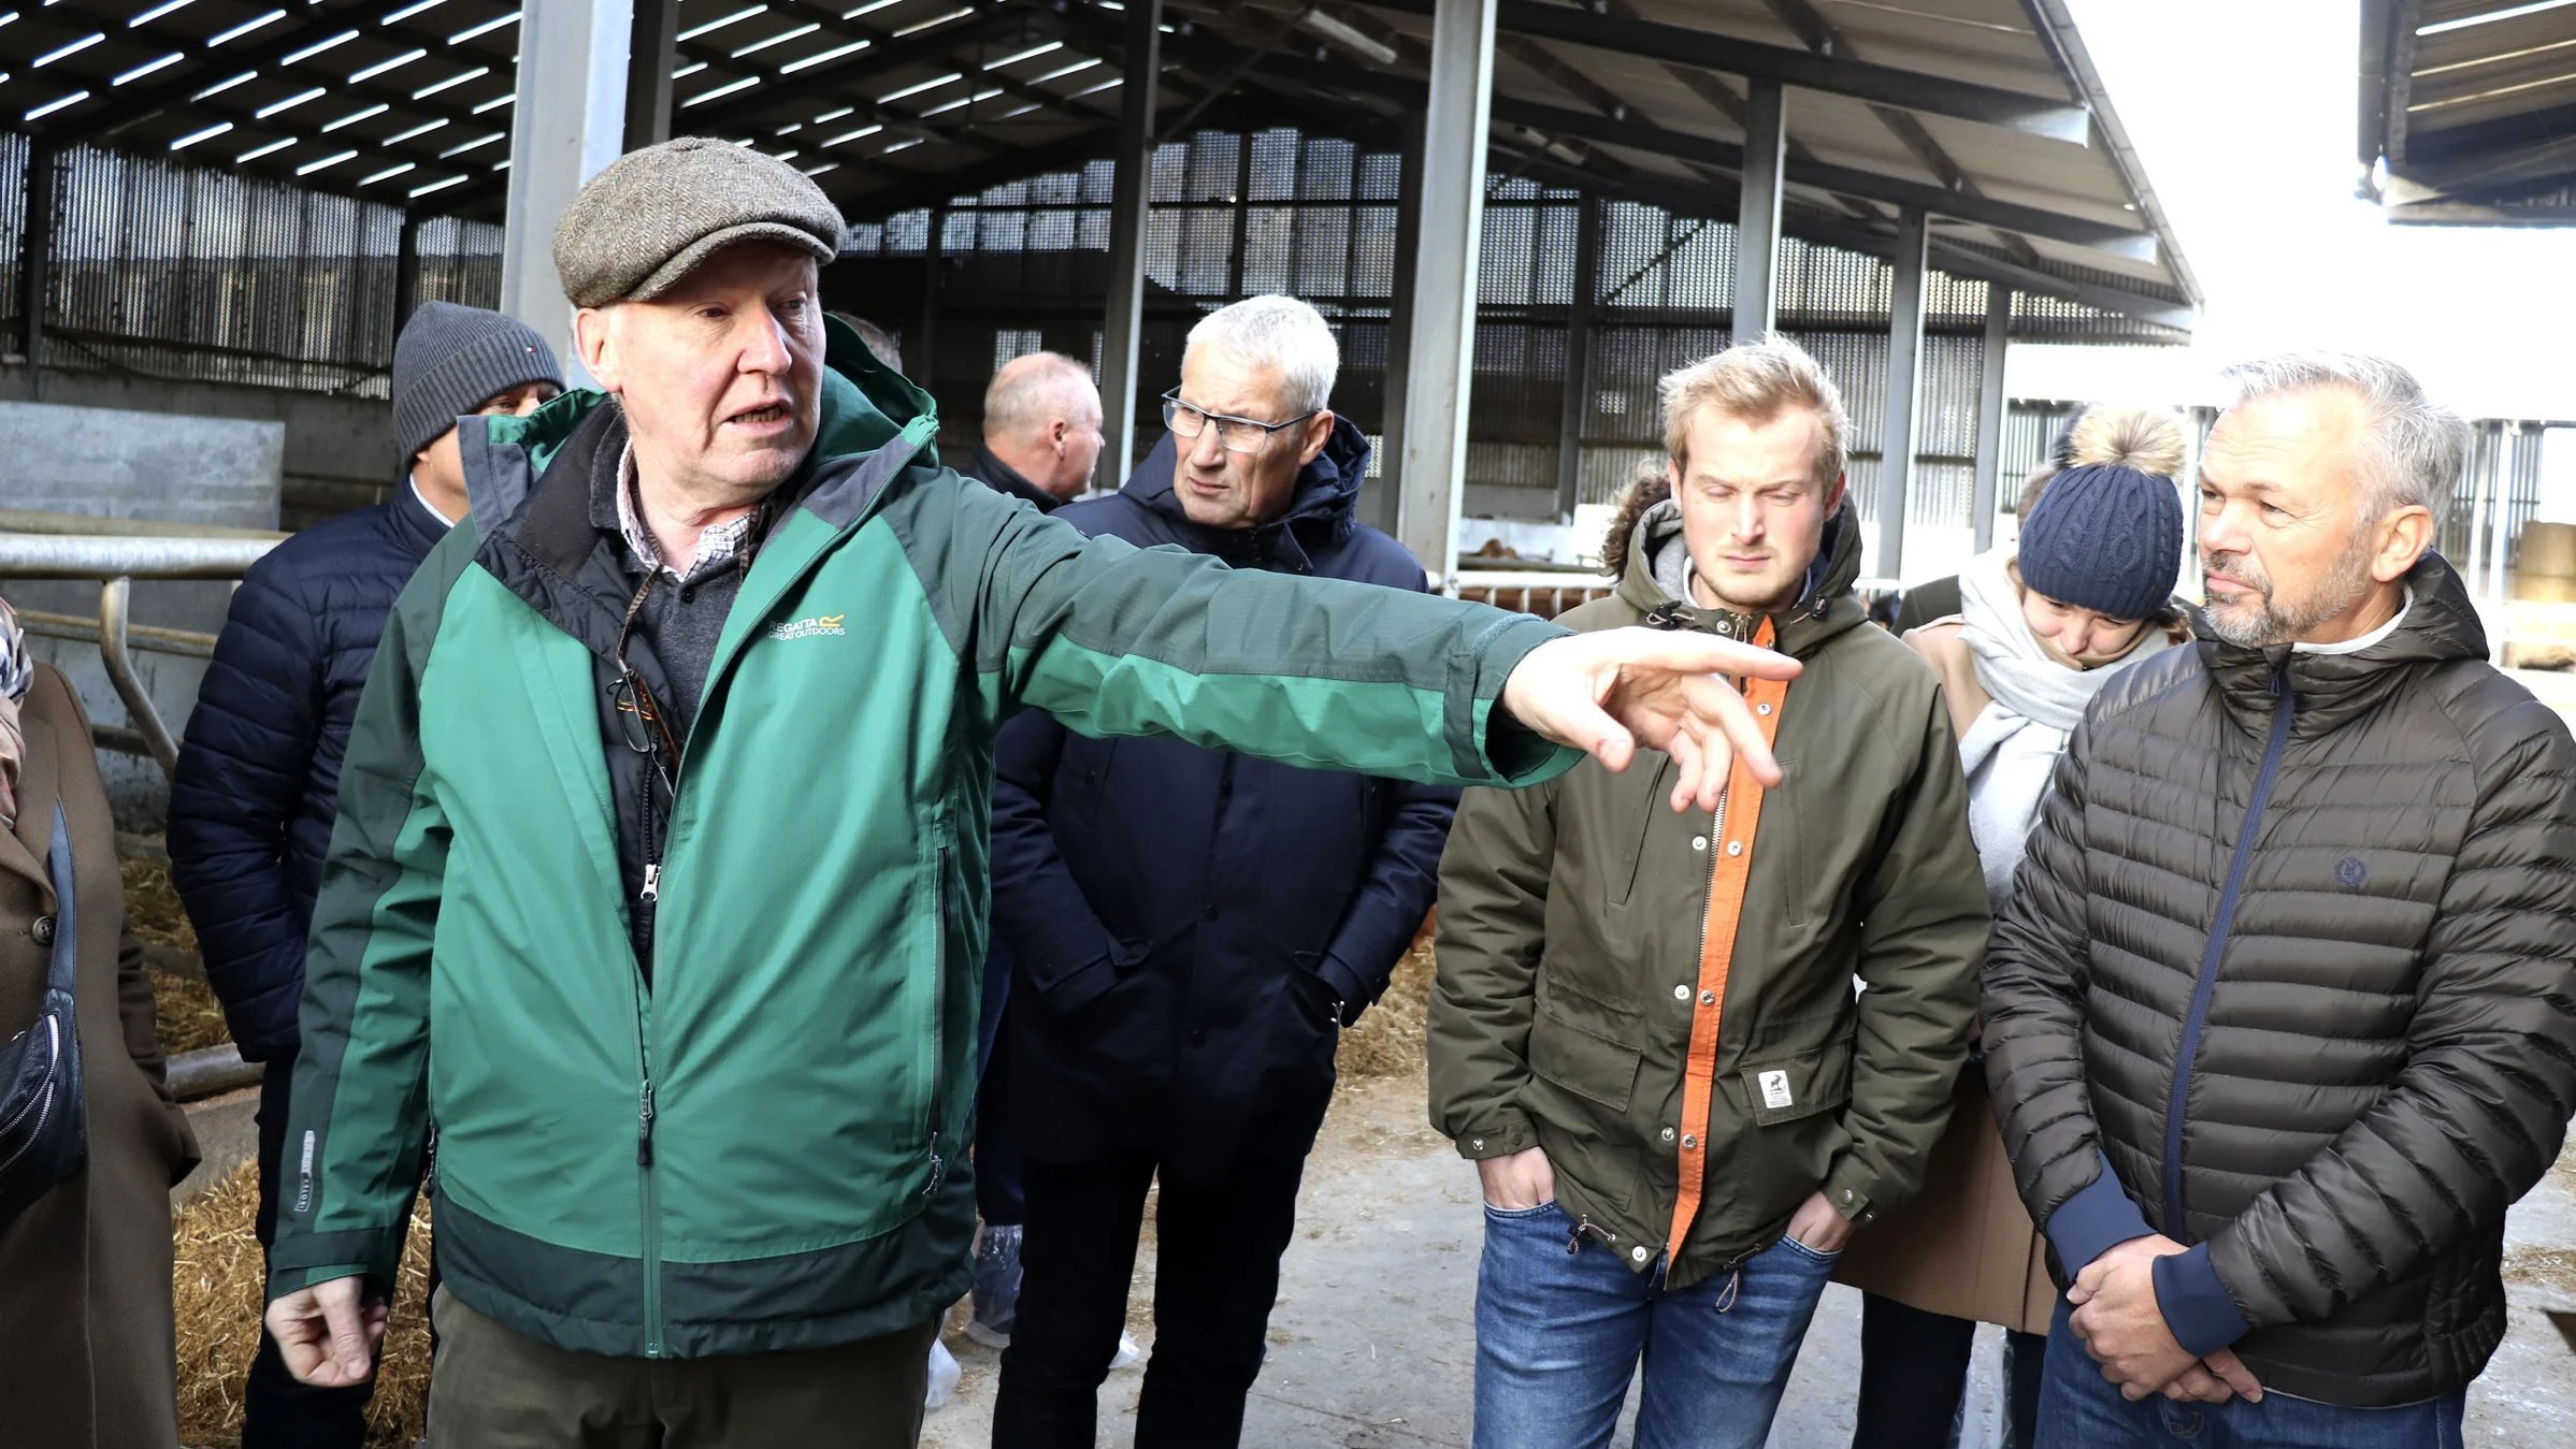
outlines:
[[[2032,1217],[2107,1158],[2246,1367],[2336,1405],[2478,1374],[2504,1210],[2576,1107],[2576,746],[2442,558],[2409,587],[2357,654],[2202,641],[2112,682],[1986,965]]]

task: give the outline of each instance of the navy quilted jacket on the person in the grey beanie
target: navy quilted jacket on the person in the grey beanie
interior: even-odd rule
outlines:
[[[250,1060],[294,1053],[340,757],[384,615],[446,525],[412,494],[296,533],[232,595],[170,782],[170,880]]]

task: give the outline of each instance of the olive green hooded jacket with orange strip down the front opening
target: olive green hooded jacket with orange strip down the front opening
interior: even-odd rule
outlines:
[[[1564,623],[1752,638],[1759,620],[1677,597],[1680,551],[1664,502],[1618,592]],[[1806,672],[1777,718],[1785,780],[1752,831],[1723,808],[1674,813],[1669,757],[1641,752],[1625,775],[1584,762],[1535,790],[1468,790],[1440,862],[1432,1125],[1468,1158],[1546,1148],[1587,1241],[1638,1271],[1680,1243],[1674,1287],[1777,1241],[1811,1192],[1855,1223],[1906,1202],[1968,1055],[1989,921],[1958,744],[1932,669],[1852,597],[1857,574],[1844,507],[1816,582],[1772,618]],[[1736,847],[1741,924],[1710,993],[1713,865]],[[1695,1143],[1685,1078],[1705,1014]],[[1685,1161],[1703,1163],[1700,1204],[1677,1215]]]

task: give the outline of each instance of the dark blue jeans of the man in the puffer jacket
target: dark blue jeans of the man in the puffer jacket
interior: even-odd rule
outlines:
[[[2038,1449],[2460,1449],[2468,1390],[2398,1408],[2339,1408],[2264,1392],[2262,1403],[2174,1403],[2120,1398],[2084,1351],[2058,1302],[2040,1385]]]

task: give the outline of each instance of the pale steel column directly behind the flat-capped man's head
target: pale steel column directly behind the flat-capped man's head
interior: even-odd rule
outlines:
[[[634,0],[528,0],[518,21],[500,309],[544,335],[574,383],[587,383],[590,373],[572,345],[572,306],[554,275],[554,224],[572,193],[626,147],[631,28]]]

